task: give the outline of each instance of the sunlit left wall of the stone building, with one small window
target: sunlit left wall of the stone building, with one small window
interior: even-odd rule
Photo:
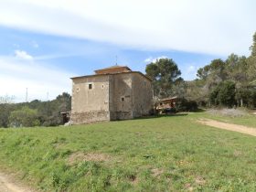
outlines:
[[[109,76],[73,80],[70,120],[74,124],[110,121]]]

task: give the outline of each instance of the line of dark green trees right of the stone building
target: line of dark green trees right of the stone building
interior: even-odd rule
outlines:
[[[213,59],[197,70],[196,80],[183,80],[173,59],[158,59],[146,66],[146,75],[154,83],[155,102],[177,96],[184,103],[201,107],[256,107],[256,33],[251,55],[231,53],[226,60]],[[187,102],[188,101],[188,102]]]

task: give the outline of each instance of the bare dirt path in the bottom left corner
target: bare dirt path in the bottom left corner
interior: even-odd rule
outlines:
[[[0,192],[32,192],[32,190],[14,183],[10,176],[0,173]]]

